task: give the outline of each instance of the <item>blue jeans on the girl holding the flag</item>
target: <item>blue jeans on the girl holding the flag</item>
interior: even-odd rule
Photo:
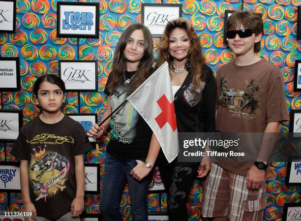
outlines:
[[[145,161],[145,159],[140,160]],[[142,181],[135,180],[130,172],[136,165],[135,159],[120,159],[106,154],[100,196],[100,211],[105,221],[122,221],[119,204],[126,181],[130,193],[133,221],[148,220],[147,193],[150,176],[148,175]]]

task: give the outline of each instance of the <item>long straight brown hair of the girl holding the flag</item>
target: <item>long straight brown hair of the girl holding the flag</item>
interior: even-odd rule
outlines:
[[[129,87],[127,88],[128,92],[135,91],[149,76],[150,70],[153,65],[153,47],[152,47],[152,38],[150,30],[145,27],[143,24],[134,24],[129,26],[120,36],[117,48],[114,53],[114,60],[112,65],[112,80],[108,85],[110,92],[113,92],[121,83],[122,76],[126,70],[126,58],[123,54],[123,51],[126,47],[127,40],[136,30],[141,30],[144,35],[144,55],[140,60],[138,65],[135,77],[131,80]]]

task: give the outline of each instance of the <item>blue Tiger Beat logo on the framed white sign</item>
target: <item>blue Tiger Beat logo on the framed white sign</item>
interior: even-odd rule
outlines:
[[[93,14],[91,12],[64,12],[65,19],[62,20],[63,30],[91,30],[93,25]]]

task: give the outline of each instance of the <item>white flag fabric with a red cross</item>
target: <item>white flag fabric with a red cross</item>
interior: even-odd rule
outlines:
[[[168,162],[173,161],[178,156],[178,130],[168,63],[163,63],[127,100],[151,127]]]

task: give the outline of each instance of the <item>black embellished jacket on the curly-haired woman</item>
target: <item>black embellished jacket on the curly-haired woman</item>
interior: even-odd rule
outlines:
[[[174,96],[175,112],[178,132],[213,132],[215,130],[215,79],[208,65],[202,69],[202,82],[197,92],[192,92],[191,69],[187,69],[188,75],[180,89]],[[158,161],[169,164],[162,150]],[[171,164],[178,161],[175,158]],[[192,164],[180,163],[180,164]]]

